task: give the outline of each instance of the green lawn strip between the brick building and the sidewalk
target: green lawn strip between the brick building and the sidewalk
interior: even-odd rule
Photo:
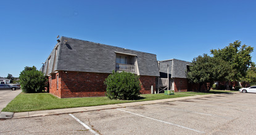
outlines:
[[[120,104],[125,102],[140,102],[152,101],[157,99],[179,98],[185,96],[195,95],[209,95],[216,93],[229,93],[235,91],[218,91],[213,90],[210,93],[197,93],[197,92],[181,92],[175,95],[140,95],[136,100],[112,100],[107,97],[87,97],[87,98],[57,98],[49,93],[20,93],[13,99],[2,112],[29,112],[35,110],[51,110],[51,109],[64,109],[73,107],[86,107],[86,106],[101,106],[107,104]]]

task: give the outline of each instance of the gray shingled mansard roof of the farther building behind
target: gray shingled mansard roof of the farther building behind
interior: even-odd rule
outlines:
[[[188,61],[182,61],[177,59],[159,61],[159,63],[160,63],[160,75],[161,77],[164,77],[164,78],[167,77],[167,63],[170,65],[169,77],[172,77],[172,78],[187,78],[186,77],[187,65],[191,64]],[[171,71],[172,71],[172,76],[171,76]]]

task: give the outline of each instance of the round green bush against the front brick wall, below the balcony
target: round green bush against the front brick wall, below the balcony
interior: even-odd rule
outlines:
[[[107,79],[105,79],[105,85],[107,85],[106,96],[110,99],[124,99],[131,100],[136,99],[141,94],[141,83],[139,77],[130,72],[117,73],[113,71]]]

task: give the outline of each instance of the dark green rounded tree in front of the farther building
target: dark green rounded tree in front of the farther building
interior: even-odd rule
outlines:
[[[189,82],[199,83],[200,88],[205,85],[210,91],[214,82],[227,79],[230,69],[225,61],[204,54],[193,59],[187,77]]]

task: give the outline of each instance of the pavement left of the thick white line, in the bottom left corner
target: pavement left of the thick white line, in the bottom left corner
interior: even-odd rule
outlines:
[[[0,134],[93,134],[70,115],[0,120]]]

